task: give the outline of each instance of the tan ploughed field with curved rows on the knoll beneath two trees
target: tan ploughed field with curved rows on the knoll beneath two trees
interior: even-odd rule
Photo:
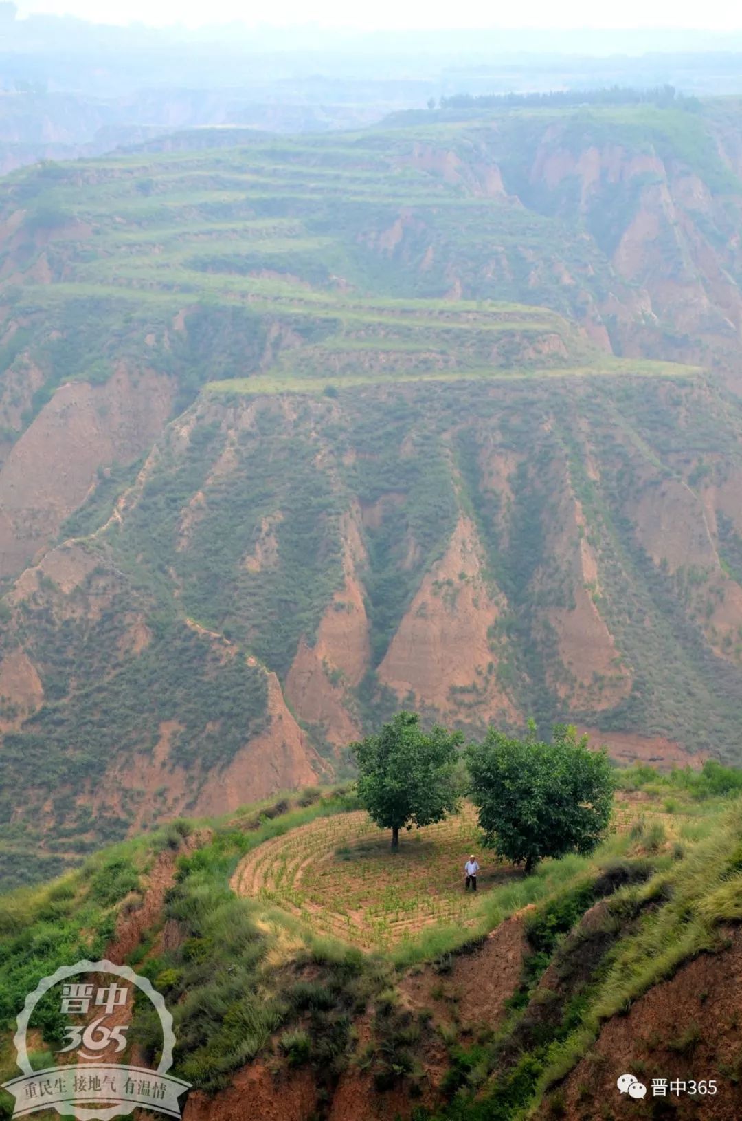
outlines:
[[[622,790],[600,855],[669,850],[703,832],[704,814],[677,795]],[[481,865],[476,896],[464,891],[462,871],[472,852]],[[560,864],[545,863],[546,881],[562,874]],[[520,869],[482,850],[469,803],[436,825],[403,832],[396,854],[365,810],[316,817],[252,849],[231,880],[237,895],[275,906],[318,935],[367,951],[411,952],[421,934],[435,928],[473,933],[482,907],[508,908],[522,884]]]

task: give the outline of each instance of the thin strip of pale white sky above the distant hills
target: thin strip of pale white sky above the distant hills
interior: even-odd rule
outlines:
[[[273,26],[316,22],[359,29],[402,27],[666,27],[732,30],[742,28],[742,9],[731,0],[623,0],[599,4],[595,0],[524,0],[498,4],[469,0],[466,4],[430,0],[272,0],[251,4],[245,0],[16,0],[19,12],[69,13],[97,21],[189,26],[238,19]]]

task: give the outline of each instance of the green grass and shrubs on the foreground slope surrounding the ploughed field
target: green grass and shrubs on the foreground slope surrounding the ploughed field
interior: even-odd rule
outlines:
[[[414,1097],[429,1085],[425,1051],[442,1040],[449,1069],[436,1118],[541,1115],[542,1095],[590,1050],[605,1020],[697,953],[723,951],[724,924],[742,919],[739,805],[726,794],[739,788],[739,775],[713,765],[702,775],[669,776],[645,767],[619,781],[629,793],[619,795],[618,832],[595,853],[546,860],[535,876],[482,891],[471,902],[473,923],[429,927],[392,954],[320,938],[311,916],[290,914],[260,891],[238,898],[228,888],[238,862],[262,846],[355,809],[347,793],[320,798],[311,790],[291,803],[245,807],[206,832],[176,823],[148,845],[120,845],[54,884],[3,898],[4,1039],[41,975],[104,953],[116,916],[126,914],[122,905],[135,906],[156,854],[171,852],[176,883],[128,961],[175,1012],[177,1074],[214,1092],[245,1064],[270,1057],[278,1068],[310,1066],[328,1105],[348,1068],[370,1069],[377,1093],[395,1087]],[[638,786],[640,804],[630,793]],[[660,809],[667,790],[674,791],[671,812]],[[656,826],[630,816],[639,808],[656,815]],[[398,859],[387,850],[387,862]],[[353,864],[346,874],[354,874]],[[496,1032],[464,1044],[453,1023],[436,1027],[430,1011],[404,1008],[397,986],[411,966],[413,975],[432,966],[444,982],[459,954],[478,953],[485,935],[527,904],[535,906],[525,920],[520,983]],[[595,905],[583,926],[582,916]],[[159,937],[166,924],[170,934],[178,932],[167,944]],[[547,991],[546,971],[556,989]],[[374,1054],[358,1046],[360,1018],[370,1025]],[[37,1021],[45,1044],[60,1038],[50,1002]],[[157,1025],[141,1009],[133,1034],[152,1057]],[[12,1062],[3,1055],[10,1076]]]

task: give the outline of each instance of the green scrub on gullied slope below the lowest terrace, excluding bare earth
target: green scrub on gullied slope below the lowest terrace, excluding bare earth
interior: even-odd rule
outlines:
[[[121,837],[137,812],[132,793],[113,816],[91,819],[72,787],[59,788],[65,772],[86,784],[102,761],[131,766],[172,720],[179,726],[171,761],[189,771],[199,761],[218,769],[265,728],[261,664],[285,683],[302,637],[312,645],[335,610],[349,519],[363,549],[355,575],[370,658],[358,686],[344,687],[364,729],[407,703],[383,685],[378,666],[463,513],[478,531],[487,586],[505,597],[482,680],[495,680],[522,719],[533,714],[543,733],[554,722],[579,721],[738,758],[742,646],[732,633],[714,652],[706,623],[706,604],[718,602],[733,576],[711,567],[711,553],[706,575],[693,584],[683,568],[674,575],[655,564],[641,546],[655,516],[639,516],[626,499],[651,498],[668,480],[680,487],[694,472],[697,487],[723,485],[739,457],[739,404],[694,379],[602,386],[538,378],[407,383],[393,393],[359,387],[337,397],[204,395],[159,442],[122,520],[75,546],[91,558],[83,583],[63,592],[40,578],[30,597],[6,600],[2,650],[22,646],[46,703],[6,733],[4,758],[30,805],[53,798],[48,856],[73,859],[77,845]],[[668,395],[673,415],[683,417],[675,427]],[[698,474],[720,450],[724,463]],[[504,484],[492,487],[488,464],[499,462],[507,465]],[[104,476],[65,534],[103,526],[132,475],[122,469]],[[680,490],[692,525],[701,518],[696,499]],[[574,517],[570,493],[585,519],[600,590],[585,587],[573,553],[555,545]],[[733,530],[720,525],[722,556],[733,558]],[[576,529],[570,539],[576,549]],[[611,657],[630,675],[618,697],[611,691],[623,680],[621,665],[602,676],[590,667],[593,676],[581,685],[544,624],[546,611],[574,611],[581,595],[605,620]],[[188,619],[222,638],[195,632]],[[342,666],[327,674],[336,669]],[[481,730],[487,713],[478,700],[476,692],[457,695],[457,726]],[[327,752],[325,731],[311,734]],[[12,852],[38,837],[39,823],[30,814],[18,819],[11,786],[3,793],[6,874],[43,874],[13,870]]]

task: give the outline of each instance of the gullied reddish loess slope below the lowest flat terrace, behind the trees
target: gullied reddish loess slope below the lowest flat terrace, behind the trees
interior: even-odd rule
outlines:
[[[693,379],[207,395],[6,594],[16,828],[309,786],[401,705],[736,758],[738,408]]]

